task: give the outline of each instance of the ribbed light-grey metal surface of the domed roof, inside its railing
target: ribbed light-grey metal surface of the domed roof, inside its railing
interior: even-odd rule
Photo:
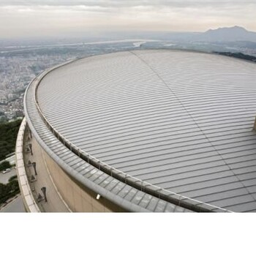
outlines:
[[[182,50],[110,53],[53,69],[36,97],[48,124],[103,164],[170,194],[256,211],[255,64]]]

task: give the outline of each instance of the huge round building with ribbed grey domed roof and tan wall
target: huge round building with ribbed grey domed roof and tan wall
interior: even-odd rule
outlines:
[[[26,211],[256,211],[256,65],[188,50],[69,61],[24,97]]]

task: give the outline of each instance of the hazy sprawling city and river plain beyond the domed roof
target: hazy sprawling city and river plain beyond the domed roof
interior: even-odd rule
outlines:
[[[0,42],[0,121],[21,118],[26,86],[40,72],[65,61],[136,48],[230,52],[256,57],[256,39],[255,41],[236,41],[231,38],[229,41],[216,42],[214,37],[206,40],[197,38],[198,34],[191,33],[151,33],[150,36],[151,39],[147,39],[148,33],[142,33],[140,39],[127,39],[124,35],[114,39],[104,37],[98,42],[91,42],[94,38],[87,39],[87,42],[83,41],[84,39],[75,41],[73,39],[69,42],[67,39],[64,42],[51,40],[43,44],[36,41],[35,45],[26,45],[22,41]]]

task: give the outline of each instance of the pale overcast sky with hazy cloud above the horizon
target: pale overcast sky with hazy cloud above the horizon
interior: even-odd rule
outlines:
[[[256,1],[0,0],[0,38],[106,31],[256,31]]]

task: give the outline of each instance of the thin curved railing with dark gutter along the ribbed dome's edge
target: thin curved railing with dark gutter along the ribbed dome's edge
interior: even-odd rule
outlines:
[[[75,61],[77,61],[77,60],[75,60]],[[73,61],[68,61],[64,64],[60,64],[56,67],[53,67],[52,69],[48,69],[45,72],[42,72],[42,74],[37,76],[37,78],[34,78],[34,80],[32,80],[31,83],[29,84],[29,86],[31,86],[31,84],[36,83],[34,86],[34,102],[37,107],[39,116],[41,116],[42,120],[44,121],[44,123],[46,124],[48,129],[50,129],[50,131],[53,133],[53,135],[64,146],[69,148],[70,151],[72,151],[74,154],[76,154],[78,157],[80,157],[84,161],[88,162],[90,165],[93,165],[97,169],[102,170],[102,172],[107,173],[110,176],[113,176],[113,178],[116,178],[119,181],[124,182],[125,184],[129,184],[130,186],[135,187],[136,189],[139,189],[142,192],[146,192],[149,195],[159,197],[159,199],[165,200],[169,203],[173,203],[177,206],[181,206],[181,207],[187,208],[192,211],[197,211],[197,212],[200,212],[200,211],[201,212],[212,212],[212,211],[232,212],[225,208],[213,206],[211,204],[203,203],[199,200],[195,200],[190,197],[186,197],[184,195],[179,195],[175,192],[170,192],[167,189],[162,189],[161,187],[157,187],[157,186],[150,184],[146,181],[140,180],[139,178],[130,176],[129,174],[124,173],[123,171],[118,170],[114,167],[111,167],[110,165],[107,165],[105,162],[102,162],[99,159],[91,156],[87,152],[78,148],[78,146],[75,146],[71,141],[69,141],[67,138],[65,138],[64,135],[61,135],[61,133],[58,131],[58,129],[56,129],[55,127],[53,127],[52,124],[50,124],[50,122],[47,120],[45,115],[42,113],[41,108],[39,108],[39,103],[38,103],[38,99],[37,99],[37,89],[38,89],[40,81],[42,80],[42,78],[45,77],[45,75],[48,75],[53,70],[55,70],[59,67],[63,67],[64,65],[69,64],[70,62],[73,62]]]

